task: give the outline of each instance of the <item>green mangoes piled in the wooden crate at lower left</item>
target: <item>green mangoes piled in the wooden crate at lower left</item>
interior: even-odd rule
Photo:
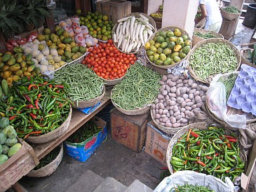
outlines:
[[[9,125],[9,119],[6,117],[0,119],[0,165],[17,153],[21,146],[17,140],[17,132]]]

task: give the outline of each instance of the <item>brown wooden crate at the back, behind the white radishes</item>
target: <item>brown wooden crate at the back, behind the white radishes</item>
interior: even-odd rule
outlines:
[[[103,0],[97,2],[96,7],[99,13],[109,15],[113,23],[131,13],[131,2],[125,0]]]

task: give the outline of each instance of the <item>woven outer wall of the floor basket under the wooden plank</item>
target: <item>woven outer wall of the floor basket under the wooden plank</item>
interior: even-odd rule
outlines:
[[[29,177],[46,177],[51,174],[58,168],[59,163],[61,163],[63,157],[63,144],[61,143],[61,150],[59,150],[58,156],[50,162],[48,165],[45,167],[42,167],[41,169],[38,170],[31,170],[27,176]]]

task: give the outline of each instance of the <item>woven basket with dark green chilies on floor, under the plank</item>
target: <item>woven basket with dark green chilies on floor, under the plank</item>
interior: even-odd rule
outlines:
[[[57,146],[53,151],[40,160],[40,163],[31,170],[27,176],[29,177],[46,177],[58,168],[63,157],[63,144]]]

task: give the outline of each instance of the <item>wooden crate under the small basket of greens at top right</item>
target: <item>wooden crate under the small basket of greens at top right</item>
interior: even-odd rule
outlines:
[[[230,39],[235,34],[238,21],[239,21],[239,18],[233,21],[228,21],[227,19],[223,19],[219,33],[222,34],[225,39]]]

